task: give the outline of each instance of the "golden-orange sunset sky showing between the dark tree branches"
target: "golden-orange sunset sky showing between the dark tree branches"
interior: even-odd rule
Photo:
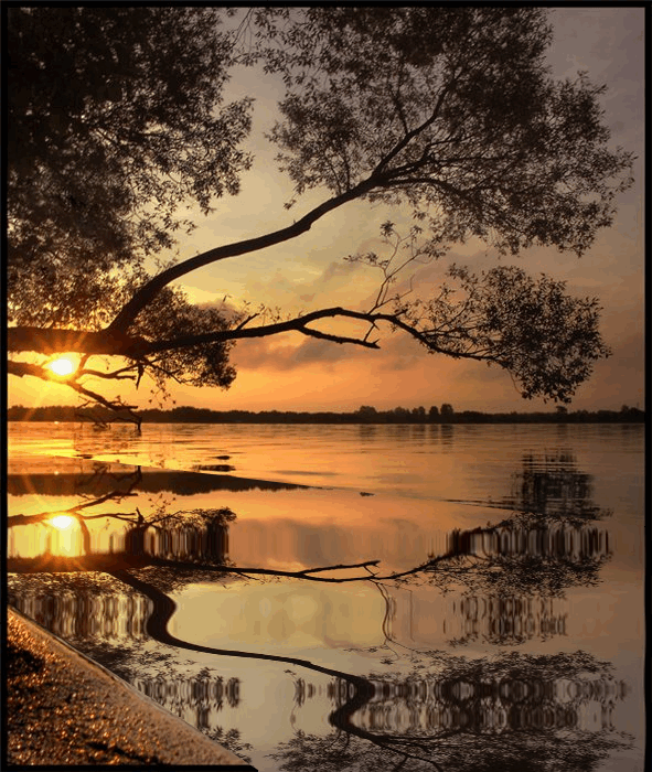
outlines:
[[[603,307],[602,332],[613,355],[598,363],[592,378],[576,395],[570,409],[644,407],[643,395],[643,131],[644,11],[641,8],[563,8],[552,11],[555,42],[549,64],[558,77],[587,71],[605,83],[606,121],[613,146],[637,153],[635,183],[619,200],[613,227],[599,233],[580,259],[555,249],[536,248],[510,259],[530,272],[546,272],[568,282],[579,296],[596,296]],[[210,247],[275,230],[298,219],[329,197],[312,191],[289,212],[291,184],[274,162],[275,148],[263,133],[275,120],[277,81],[254,71],[234,73],[228,98],[256,97],[254,131],[248,141],[256,153],[243,178],[238,196],[216,202],[215,212],[179,245],[180,257]],[[355,202],[319,221],[303,236],[252,255],[225,260],[184,277],[182,285],[197,302],[245,300],[280,307],[286,312],[330,305],[365,309],[375,297],[378,277],[342,258],[371,248],[381,251],[381,223],[408,221],[400,212]],[[491,267],[496,255],[479,242],[453,247],[439,264],[416,271],[416,293],[427,294],[446,267],[455,261],[473,270]],[[381,351],[342,346],[289,333],[238,343],[233,362],[238,375],[227,392],[172,388],[179,405],[229,409],[351,410],[361,405],[378,409],[451,403],[456,410],[535,410],[543,400],[523,400],[507,373],[472,362],[428,355],[399,333],[384,331]],[[24,383],[22,383],[24,380]],[[74,404],[70,389],[34,379],[12,378],[9,404]],[[110,393],[110,392],[108,392]],[[121,394],[141,407],[150,394]],[[171,405],[170,405],[171,407]],[[545,409],[554,409],[548,404]]]

